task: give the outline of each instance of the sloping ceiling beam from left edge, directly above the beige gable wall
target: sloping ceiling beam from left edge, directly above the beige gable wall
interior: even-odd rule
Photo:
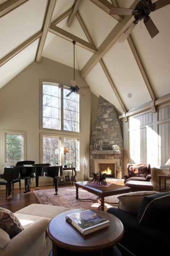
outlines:
[[[39,31],[34,36],[31,36],[28,40],[23,42],[21,45],[19,45],[17,48],[12,50],[12,52],[8,53],[5,57],[1,58],[0,60],[0,66],[4,65],[7,61],[9,61],[11,58],[16,56],[19,52],[24,50],[27,46],[29,46],[32,42],[37,40],[39,37],[41,37],[43,34],[43,31]]]

